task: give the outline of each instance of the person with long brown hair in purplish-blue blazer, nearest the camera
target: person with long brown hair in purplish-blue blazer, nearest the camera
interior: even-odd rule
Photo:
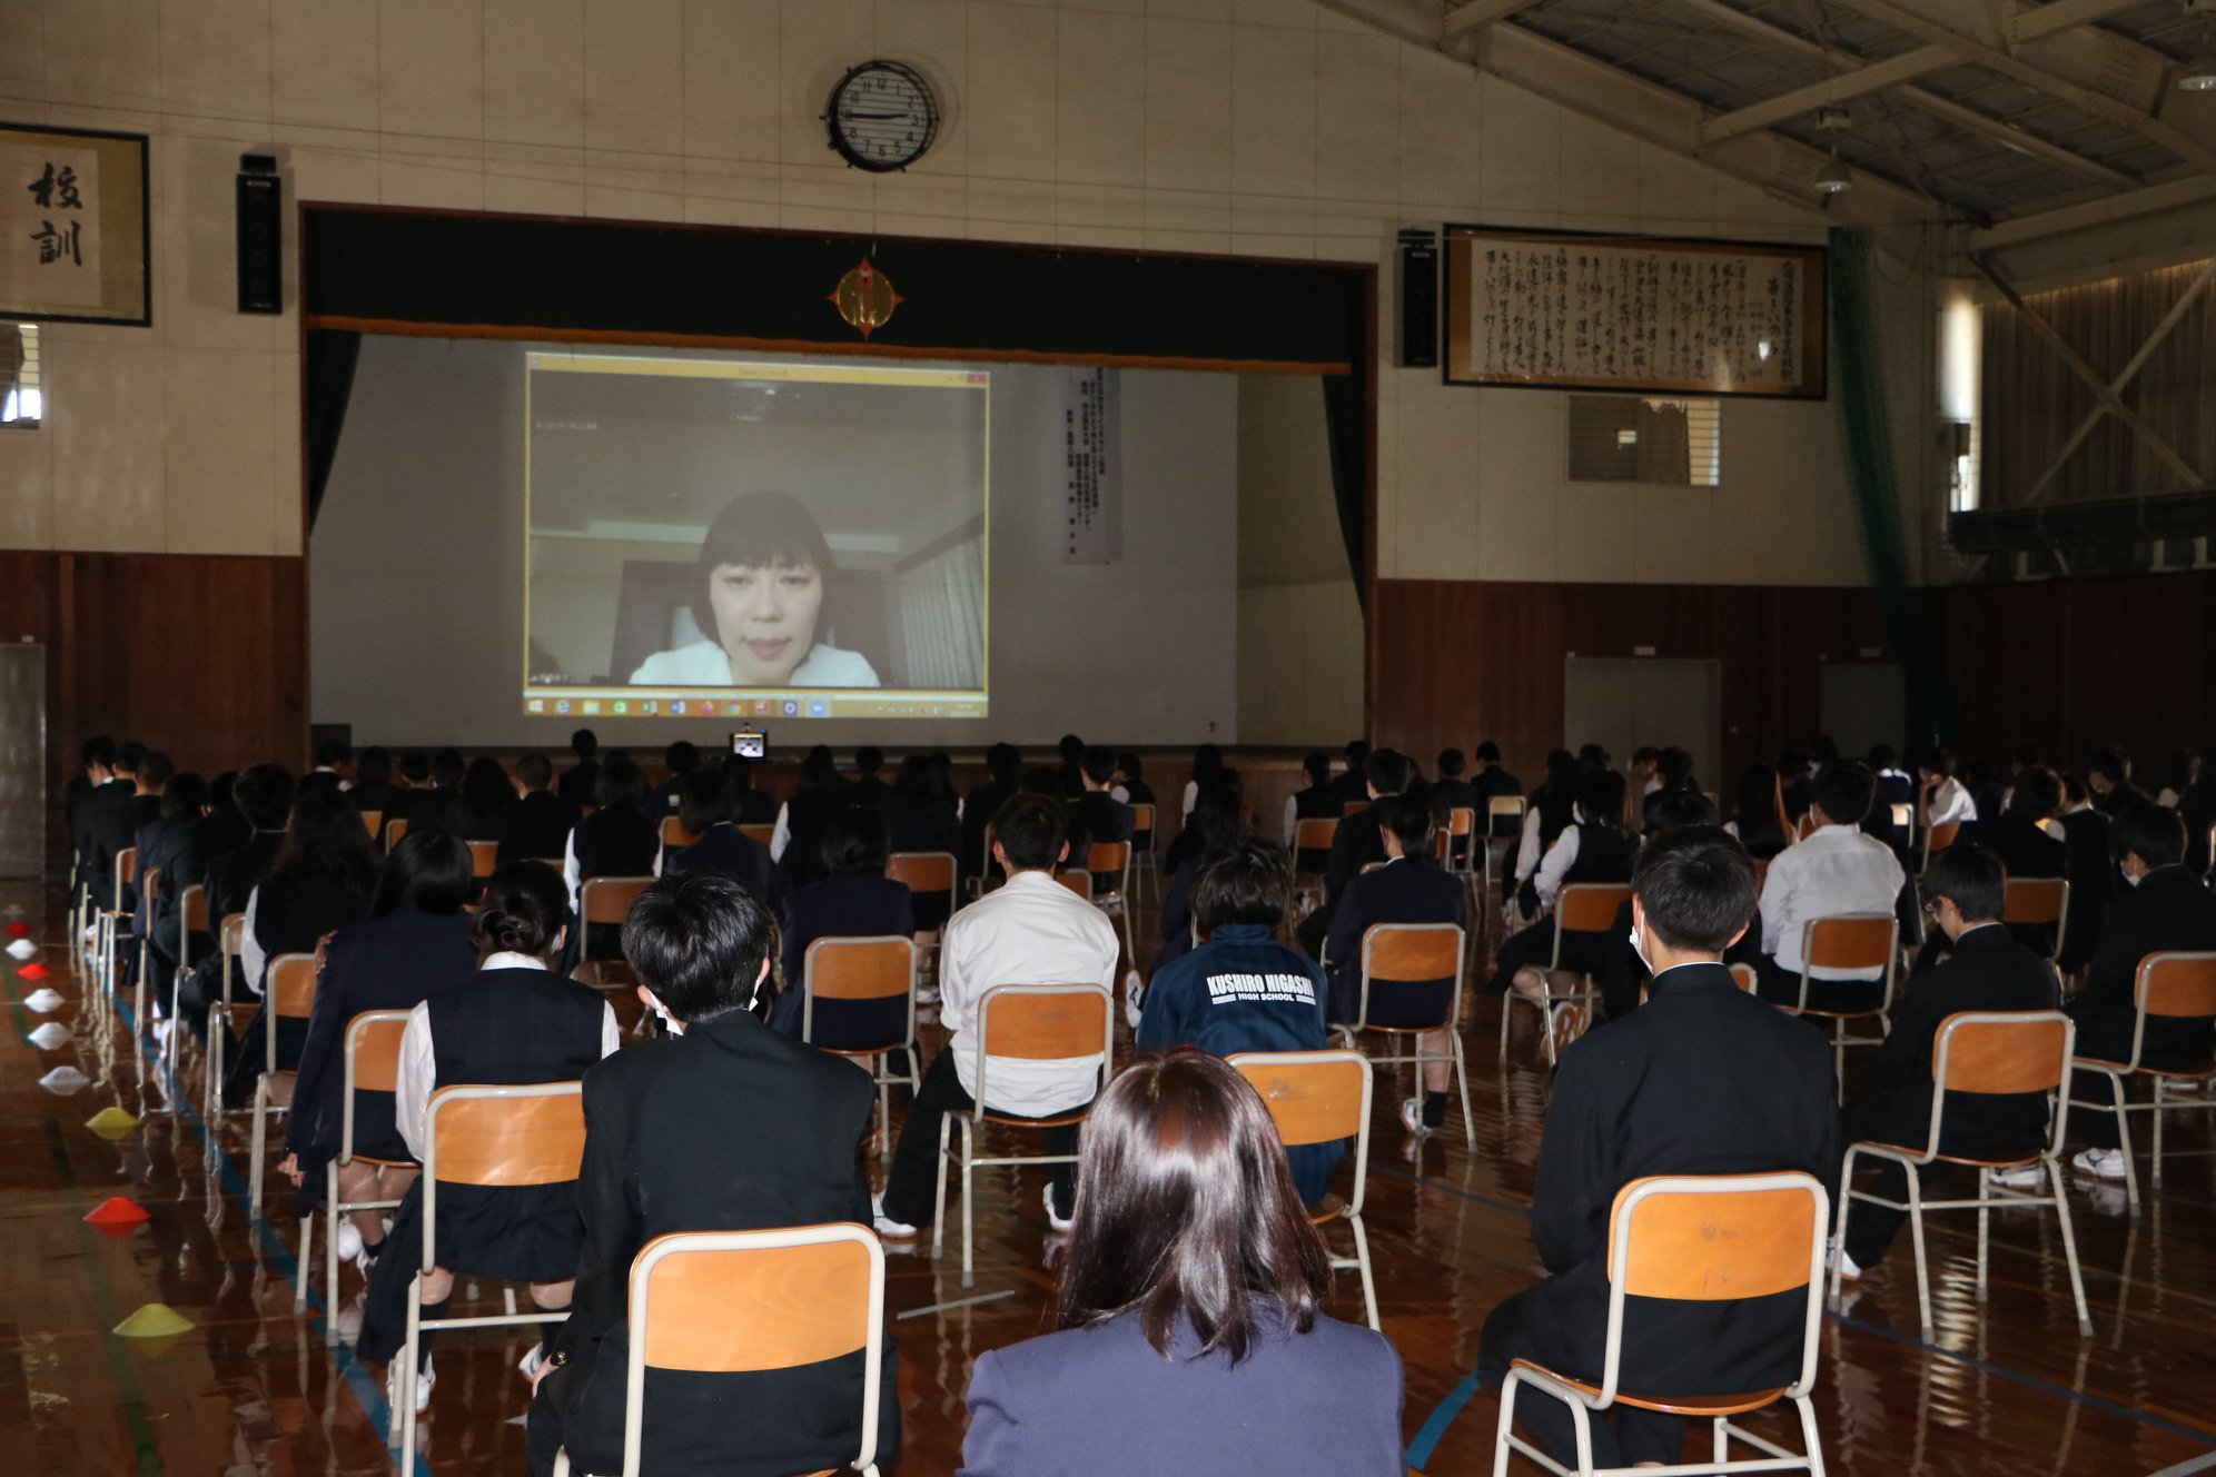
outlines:
[[[1276,1127],[1201,1052],[1092,1109],[1055,1333],[971,1373],[966,1477],[1401,1477],[1401,1360],[1325,1318],[1330,1253]]]

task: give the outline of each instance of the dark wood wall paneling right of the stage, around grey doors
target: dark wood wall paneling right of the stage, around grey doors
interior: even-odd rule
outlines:
[[[1897,660],[1868,589],[1378,580],[1372,742],[1429,771],[1440,748],[1491,737],[1536,784],[1547,751],[1580,742],[1562,733],[1571,655],[1715,658],[1724,762],[1702,779],[1726,791],[1746,762],[1817,731],[1822,660]]]

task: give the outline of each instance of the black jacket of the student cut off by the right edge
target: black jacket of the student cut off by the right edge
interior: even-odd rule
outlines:
[[[2156,868],[2110,901],[2085,992],[2070,1008],[2079,1056],[2125,1061],[2132,1054],[2138,961],[2169,950],[2216,950],[2216,892],[2183,866]],[[2196,1067],[2212,1050],[2216,1027],[2205,1019],[2147,1019],[2147,1065]]]

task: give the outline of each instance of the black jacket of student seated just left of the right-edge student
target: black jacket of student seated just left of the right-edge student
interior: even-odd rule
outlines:
[[[2017,943],[2005,928],[1972,928],[1946,963],[1921,970],[1892,1016],[1870,1083],[1848,1116],[1853,1138],[1921,1149],[1930,1134],[1932,1043],[1939,1025],[1961,1010],[2054,1010],[2054,970]],[[2001,1156],[2037,1149],[2045,1136],[2043,1092],[1988,1096],[1957,1092],[1946,1105],[1948,1154]]]

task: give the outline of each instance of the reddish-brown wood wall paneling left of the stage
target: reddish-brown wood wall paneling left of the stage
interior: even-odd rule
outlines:
[[[47,647],[49,866],[89,733],[202,773],[308,757],[306,560],[0,551],[0,640]]]

